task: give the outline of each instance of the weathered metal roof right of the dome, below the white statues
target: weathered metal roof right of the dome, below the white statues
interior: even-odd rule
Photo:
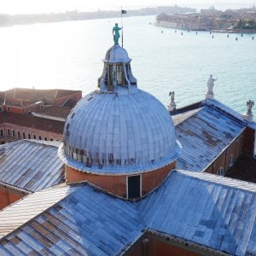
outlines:
[[[203,172],[246,128],[241,122],[206,105],[184,114],[176,125],[177,140],[183,147],[177,168],[183,170]],[[183,116],[180,113],[172,118],[181,119],[180,115]]]

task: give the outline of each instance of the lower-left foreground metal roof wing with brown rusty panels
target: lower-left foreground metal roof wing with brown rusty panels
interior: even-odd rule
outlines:
[[[74,189],[66,196],[67,187],[35,193],[19,201],[19,207],[15,204],[0,212],[0,226],[7,225],[3,220],[8,213],[11,225],[16,218],[13,212],[18,209],[25,218],[29,217],[27,204],[37,208],[41,199],[48,206],[47,197],[51,203],[59,200],[47,210],[40,206],[44,212],[4,236],[0,254],[116,255],[143,235],[144,226],[131,202],[115,199],[86,184],[70,188]]]

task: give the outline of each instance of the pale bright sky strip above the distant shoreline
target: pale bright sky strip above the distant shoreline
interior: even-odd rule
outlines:
[[[142,7],[154,7],[156,5],[174,5],[191,6],[191,7],[207,7],[223,9],[229,7],[236,9],[239,7],[250,7],[256,5],[256,0],[231,0],[212,1],[212,0],[0,0],[0,12],[2,14],[33,14],[33,13],[49,13],[49,12],[65,12],[67,10],[78,11],[95,11],[117,10],[121,6],[123,9],[137,9]],[[242,4],[242,5],[241,5]]]

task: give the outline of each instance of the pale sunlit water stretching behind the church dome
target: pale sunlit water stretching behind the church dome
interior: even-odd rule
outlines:
[[[0,28],[0,90],[33,86],[95,90],[116,19]],[[118,20],[119,21],[119,20]],[[124,47],[139,88],[177,108],[204,98],[210,74],[215,97],[239,112],[256,101],[256,37],[174,32],[149,25],[154,16],[124,18]],[[163,31],[163,33],[161,33]],[[235,38],[238,37],[238,41]]]

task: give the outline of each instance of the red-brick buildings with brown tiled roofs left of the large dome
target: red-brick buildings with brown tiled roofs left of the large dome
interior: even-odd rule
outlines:
[[[0,92],[0,144],[20,139],[61,141],[79,90],[15,88]]]

